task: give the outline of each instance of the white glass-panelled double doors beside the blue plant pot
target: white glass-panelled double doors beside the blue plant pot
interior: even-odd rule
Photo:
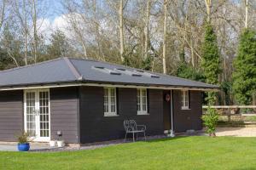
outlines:
[[[49,89],[24,92],[25,130],[35,141],[49,140]]]

